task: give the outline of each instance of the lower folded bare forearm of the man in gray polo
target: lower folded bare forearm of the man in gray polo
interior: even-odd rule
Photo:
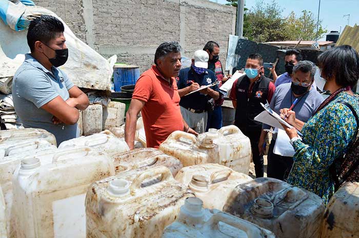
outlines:
[[[78,109],[68,105],[61,96],[55,97],[41,108],[66,125],[74,125],[78,121]]]

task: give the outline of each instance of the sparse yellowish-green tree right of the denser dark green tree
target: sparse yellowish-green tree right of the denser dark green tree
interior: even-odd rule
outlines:
[[[292,11],[286,19],[286,32],[288,40],[315,41],[317,19],[311,11],[303,10],[302,15],[296,17]],[[319,22],[318,39],[322,38],[327,30],[323,29],[322,21]]]

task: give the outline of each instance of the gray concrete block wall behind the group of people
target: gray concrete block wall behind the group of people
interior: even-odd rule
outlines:
[[[54,11],[82,41],[119,63],[138,65],[141,73],[153,64],[165,41],[178,41],[192,57],[207,41],[220,44],[226,61],[228,35],[235,31],[235,8],[207,0],[35,0]]]

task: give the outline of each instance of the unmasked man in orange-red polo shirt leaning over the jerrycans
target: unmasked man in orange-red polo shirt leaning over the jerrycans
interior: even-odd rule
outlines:
[[[175,76],[181,69],[181,46],[165,42],[158,46],[154,64],[136,83],[126,113],[125,141],[134,148],[137,115],[142,111],[147,147],[158,148],[176,130],[197,134],[184,122],[179,109]]]

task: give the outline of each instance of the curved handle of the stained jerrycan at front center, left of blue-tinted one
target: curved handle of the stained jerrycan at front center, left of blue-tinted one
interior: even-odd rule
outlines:
[[[141,184],[147,178],[155,177],[157,175],[162,175],[161,182],[173,180],[173,175],[171,171],[165,166],[158,166],[152,169],[146,170],[145,172],[138,174],[131,184],[131,194],[134,195],[135,191],[141,188]],[[161,183],[160,182],[160,183]]]

